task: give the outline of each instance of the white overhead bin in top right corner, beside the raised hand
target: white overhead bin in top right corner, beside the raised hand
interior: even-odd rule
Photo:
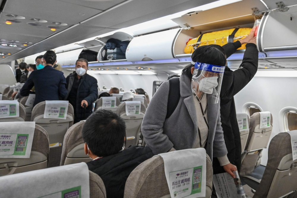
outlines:
[[[297,49],[297,1],[264,0],[270,9],[261,19],[257,47],[259,51]]]

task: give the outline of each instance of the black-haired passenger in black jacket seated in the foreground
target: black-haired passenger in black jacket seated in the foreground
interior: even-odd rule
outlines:
[[[83,126],[84,150],[93,160],[87,165],[103,180],[107,198],[124,197],[132,170],[154,156],[149,147],[131,145],[124,149],[125,135],[125,121],[106,109],[91,114]]]

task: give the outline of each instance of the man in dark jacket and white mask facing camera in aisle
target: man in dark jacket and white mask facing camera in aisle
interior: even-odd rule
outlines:
[[[87,70],[88,61],[86,59],[78,59],[75,63],[76,73],[66,78],[66,100],[73,106],[74,123],[85,120],[92,114],[92,104],[98,98],[97,79],[87,74]],[[84,107],[84,104],[86,107]]]

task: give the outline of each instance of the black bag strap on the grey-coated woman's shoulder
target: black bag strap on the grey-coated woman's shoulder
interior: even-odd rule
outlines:
[[[178,105],[179,98],[181,97],[179,90],[179,78],[170,78],[166,119],[173,114],[174,110]]]

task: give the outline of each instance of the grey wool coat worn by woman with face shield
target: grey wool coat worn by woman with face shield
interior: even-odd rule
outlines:
[[[166,153],[172,147],[176,150],[193,147],[198,135],[198,122],[191,90],[191,80],[184,74],[180,77],[180,94],[178,105],[173,114],[166,119],[169,81],[161,84],[154,94],[143,118],[141,132],[147,146],[155,155]],[[220,103],[214,104],[216,98],[207,94],[209,133],[206,153],[209,157],[227,155],[220,118]]]

